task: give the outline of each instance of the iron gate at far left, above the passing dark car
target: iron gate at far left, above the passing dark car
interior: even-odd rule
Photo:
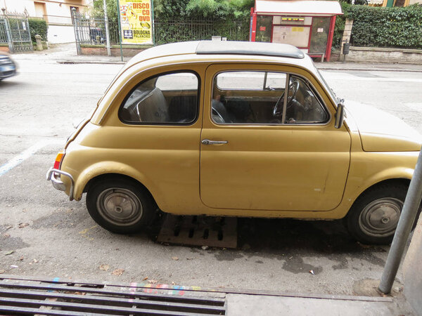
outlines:
[[[33,51],[30,25],[25,15],[0,15],[0,43],[8,44],[11,53]]]

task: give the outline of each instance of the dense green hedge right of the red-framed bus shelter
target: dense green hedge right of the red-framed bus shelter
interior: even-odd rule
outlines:
[[[333,46],[340,46],[345,18],[349,18],[353,19],[350,43],[354,46],[422,48],[422,6],[342,7],[345,14],[335,22]]]

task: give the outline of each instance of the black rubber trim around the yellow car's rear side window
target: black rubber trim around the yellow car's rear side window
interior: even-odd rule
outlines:
[[[193,74],[196,76],[196,79],[198,79],[198,89],[197,89],[197,96],[196,96],[196,115],[195,118],[193,119],[193,121],[191,122],[186,122],[186,123],[174,123],[174,122],[169,122],[169,123],[163,123],[163,122],[157,122],[157,123],[153,123],[153,122],[143,122],[143,121],[125,121],[124,119],[122,119],[122,109],[124,107],[124,105],[126,104],[126,101],[129,99],[130,96],[132,96],[132,93],[134,93],[134,91],[136,90],[136,88],[138,88],[139,86],[141,86],[141,84],[145,83],[148,80],[151,79],[158,79],[158,77],[161,76],[165,76],[167,74],[179,74],[179,73],[189,73],[189,74]],[[124,99],[122,100],[122,103],[120,103],[119,106],[119,110],[117,111],[117,117],[119,118],[119,120],[123,123],[123,124],[127,124],[127,125],[142,125],[142,126],[191,126],[193,124],[195,124],[198,121],[199,118],[199,112],[200,112],[200,93],[201,93],[201,79],[200,79],[200,75],[198,74],[198,72],[194,71],[194,70],[175,70],[175,71],[169,71],[169,72],[160,72],[159,74],[154,74],[151,77],[148,77],[146,79],[143,79],[142,81],[139,82],[139,84],[136,84],[130,91],[129,93],[127,93],[127,96],[124,97]]]

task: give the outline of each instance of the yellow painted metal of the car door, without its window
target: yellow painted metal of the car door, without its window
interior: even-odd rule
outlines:
[[[334,209],[343,197],[350,162],[350,135],[345,126],[337,130],[333,120],[328,124],[272,126],[212,122],[210,100],[215,75],[222,70],[262,69],[260,64],[242,63],[207,68],[201,138],[228,143],[201,145],[202,201],[221,209]],[[264,70],[300,74],[312,80],[309,72],[293,67],[265,65]],[[335,108],[327,101],[333,117]]]

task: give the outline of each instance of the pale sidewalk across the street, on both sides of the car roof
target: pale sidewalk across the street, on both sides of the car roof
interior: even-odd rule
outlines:
[[[76,44],[54,45],[46,51],[33,53],[13,54],[17,60],[50,60],[64,64],[124,64],[130,57],[103,56],[103,55],[77,55]],[[388,64],[388,63],[362,63],[362,62],[315,62],[320,70],[356,70],[356,71],[390,71],[390,72],[422,72],[422,65],[414,64]]]

